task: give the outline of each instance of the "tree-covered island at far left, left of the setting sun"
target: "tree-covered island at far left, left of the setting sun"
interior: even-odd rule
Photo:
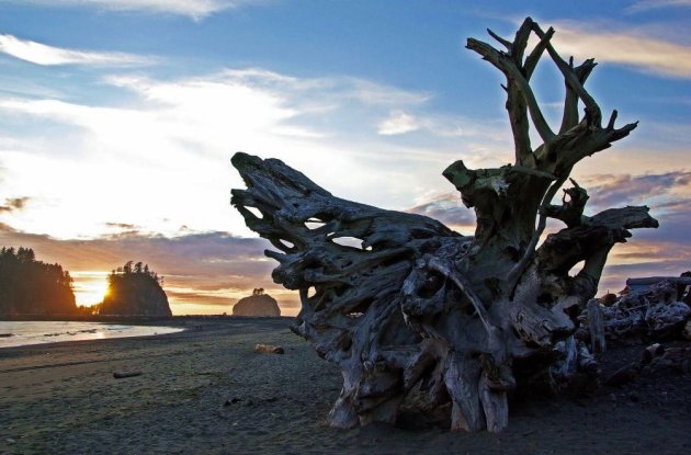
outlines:
[[[60,264],[37,261],[31,248],[0,250],[0,315],[76,312],[72,277]]]

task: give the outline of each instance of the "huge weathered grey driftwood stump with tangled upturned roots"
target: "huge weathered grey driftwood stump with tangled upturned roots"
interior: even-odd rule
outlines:
[[[565,362],[591,367],[573,338],[576,317],[594,296],[612,246],[630,229],[658,225],[645,206],[584,215],[588,194],[573,180],[562,204],[552,205],[578,161],[636,123],[615,127],[614,111],[602,125],[585,89],[594,61],[564,60],[551,43],[554,30],[529,18],[512,42],[489,33],[506,49],[473,38],[467,48],[506,76],[516,160],[478,170],[456,161],[443,172],[475,209],[473,237],[424,216],[338,198],[279,160],[233,157],[247,190],[233,190],[231,203],[281,251],[265,252],[280,263],[273,280],[299,291],[293,330],[342,371],[332,426],[394,422],[403,408],[451,403],[452,430],[501,431],[517,385],[554,383],[557,363],[562,372]],[[528,53],[531,34],[537,44]],[[544,53],[566,86],[558,129],[530,87]],[[566,227],[539,246],[548,217]]]

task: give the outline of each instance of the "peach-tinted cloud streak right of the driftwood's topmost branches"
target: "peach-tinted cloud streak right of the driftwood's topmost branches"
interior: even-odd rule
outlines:
[[[618,24],[553,23],[559,52],[579,59],[625,65],[644,72],[691,78],[691,46],[631,32]]]

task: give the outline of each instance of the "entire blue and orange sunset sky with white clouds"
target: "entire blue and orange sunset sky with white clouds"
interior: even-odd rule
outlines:
[[[127,260],[166,276],[173,314],[230,312],[271,282],[268,243],[229,205],[235,151],[333,194],[472,234],[441,177],[512,161],[502,77],[465,49],[531,15],[599,62],[604,115],[639,121],[579,163],[587,214],[646,204],[660,228],[616,246],[600,291],[691,269],[691,1],[0,0],[0,244],[34,248],[100,300]],[[556,122],[563,80],[533,77]]]

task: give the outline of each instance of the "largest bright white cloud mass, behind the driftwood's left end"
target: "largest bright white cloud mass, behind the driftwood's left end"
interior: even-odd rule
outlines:
[[[10,129],[12,140],[0,140],[3,161],[12,163],[4,179],[13,191],[49,195],[41,213],[15,216],[13,226],[49,226],[49,234],[73,238],[99,235],[104,223],[122,219],[167,235],[184,224],[249,235],[227,201],[228,189],[241,185],[228,163],[236,150],[283,159],[339,196],[400,209],[419,194],[449,187],[441,171],[458,158],[458,148],[468,166],[477,166],[499,160],[509,145],[509,136],[497,133],[506,132],[503,123],[432,116],[430,94],[355,78],[250,68],[168,80],[120,75],[101,82],[122,91],[124,101],[0,96],[7,118],[47,132],[23,136]],[[377,122],[396,111],[422,121],[417,143],[387,143],[377,134]],[[343,175],[356,175],[358,184]],[[135,184],[122,184],[133,179]],[[0,191],[2,196],[12,194]],[[82,223],[69,221],[77,218]]]

